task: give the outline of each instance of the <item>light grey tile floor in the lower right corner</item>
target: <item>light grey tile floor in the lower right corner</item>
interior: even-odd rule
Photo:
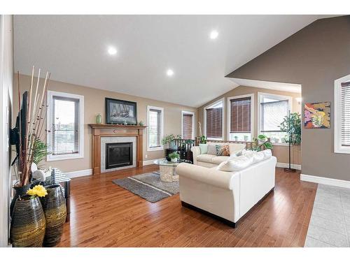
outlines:
[[[350,247],[350,189],[318,184],[304,247]]]

